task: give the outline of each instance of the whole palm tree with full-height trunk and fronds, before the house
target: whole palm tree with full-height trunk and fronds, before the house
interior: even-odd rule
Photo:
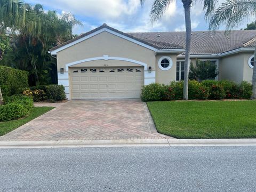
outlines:
[[[167,7],[175,2],[175,0],[155,0],[151,12],[150,19],[151,22],[159,20]],[[190,19],[190,8],[192,3],[196,0],[181,0],[184,12],[185,12],[185,26],[186,26],[186,50],[185,50],[185,74],[184,74],[184,86],[183,86],[183,99],[188,100],[188,73],[189,73],[189,60],[190,60],[190,44],[191,44],[191,19]],[[204,0],[203,9],[206,11],[205,16],[209,17],[212,11],[215,9],[215,4],[218,0]],[[140,0],[141,5],[145,3],[145,0]]]

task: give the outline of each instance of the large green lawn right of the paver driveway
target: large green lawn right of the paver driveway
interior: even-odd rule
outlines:
[[[175,138],[256,138],[256,101],[148,102],[159,133]]]

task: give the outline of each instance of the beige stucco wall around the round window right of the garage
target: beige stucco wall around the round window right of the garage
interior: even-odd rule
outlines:
[[[158,67],[158,61],[161,57],[170,57],[172,59],[172,67],[169,70],[162,70]],[[157,54],[156,55],[156,82],[169,84],[171,81],[176,80],[176,61],[177,55],[175,54]]]

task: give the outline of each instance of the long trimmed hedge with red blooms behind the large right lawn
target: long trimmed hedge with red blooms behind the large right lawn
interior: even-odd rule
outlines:
[[[231,81],[205,80],[188,82],[188,99],[250,99],[252,84]],[[142,87],[142,101],[181,100],[183,98],[183,82],[171,82],[170,85],[153,83]]]

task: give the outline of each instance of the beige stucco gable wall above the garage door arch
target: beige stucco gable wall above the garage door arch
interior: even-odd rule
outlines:
[[[110,34],[107,31],[103,31],[98,35],[58,52],[58,71],[61,67],[65,68],[67,63],[88,58],[103,57],[103,55],[140,61],[146,63],[147,67],[151,66],[152,69],[155,70],[155,51]],[[109,67],[112,65],[115,66],[115,63],[115,61],[108,61]],[[89,63],[84,63],[86,66],[88,64]]]

